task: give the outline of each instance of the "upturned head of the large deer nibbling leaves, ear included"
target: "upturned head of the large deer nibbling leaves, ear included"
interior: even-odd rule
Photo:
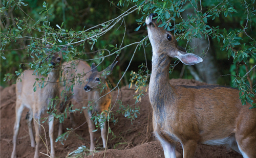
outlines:
[[[187,53],[186,50],[180,46],[177,46],[176,38],[163,27],[158,27],[162,21],[157,23],[157,14],[150,14],[146,18],[147,33],[150,39],[153,54],[167,54],[170,58],[178,58],[186,65],[194,65],[202,62],[202,58],[197,55]]]

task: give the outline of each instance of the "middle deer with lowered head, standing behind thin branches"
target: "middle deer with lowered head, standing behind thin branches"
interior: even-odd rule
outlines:
[[[116,62],[117,63],[117,62]],[[71,62],[65,62],[62,64],[62,76],[63,80],[66,81],[66,84],[64,86],[64,89],[68,89],[68,87],[71,86],[71,82],[69,80],[73,80],[74,77],[80,75],[80,81],[76,80],[75,85],[73,87],[73,92],[71,92],[71,89],[63,93],[62,100],[67,97],[67,101],[62,101],[60,106],[60,112],[63,112],[65,110],[65,107],[68,105],[70,106],[71,103],[78,103],[79,107],[87,107],[88,100],[92,102],[91,106],[93,110],[88,110],[88,108],[83,110],[84,116],[86,117],[88,127],[89,127],[89,134],[90,134],[90,152],[92,152],[95,148],[95,141],[94,141],[94,124],[91,120],[92,113],[98,112],[102,113],[103,116],[106,116],[106,111],[108,111],[111,103],[111,94],[107,94],[110,92],[110,88],[108,84],[106,83],[106,76],[109,76],[116,63],[112,64],[105,70],[98,72],[95,63],[92,64],[92,67],[88,65],[87,62],[84,61],[71,61]],[[72,66],[73,65],[73,66]],[[74,67],[74,68],[73,68]],[[86,84],[86,86],[82,86],[83,84]],[[103,88],[102,92],[102,86],[106,85],[105,88]],[[60,92],[62,89],[60,90]],[[72,95],[73,93],[73,95]],[[70,113],[70,120],[71,124],[73,125],[75,123],[73,113]],[[58,136],[60,136],[63,132],[62,130],[62,123],[59,123],[59,130],[58,130]],[[103,123],[103,126],[101,128],[101,138],[103,141],[103,147],[105,148],[106,145],[106,124]]]

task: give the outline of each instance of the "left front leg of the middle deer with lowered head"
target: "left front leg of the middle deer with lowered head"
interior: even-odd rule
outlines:
[[[89,127],[89,134],[90,134],[90,140],[91,140],[91,145],[90,145],[90,152],[93,152],[95,143],[94,143],[94,124],[93,121],[91,120],[91,114],[88,113],[88,110],[83,111],[84,116],[86,117],[88,127]]]

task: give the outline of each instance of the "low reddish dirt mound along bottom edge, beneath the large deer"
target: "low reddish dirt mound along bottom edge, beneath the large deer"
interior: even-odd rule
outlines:
[[[182,147],[178,146],[177,150],[179,153],[176,153],[177,158],[182,157]],[[105,151],[100,151],[94,154],[94,158],[102,158]],[[92,156],[87,156],[86,158],[91,158]],[[162,157],[164,158],[163,148],[159,141],[153,141],[149,143],[144,143],[138,145],[131,149],[126,150],[117,150],[109,149],[106,150],[105,157],[112,158],[144,158],[144,157]],[[225,157],[225,158],[235,158],[243,157],[236,152],[230,151],[224,147],[220,146],[204,146],[199,145],[195,154],[197,158],[214,158],[214,157]]]

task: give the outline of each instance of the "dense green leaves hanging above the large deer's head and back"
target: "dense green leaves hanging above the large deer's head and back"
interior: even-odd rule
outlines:
[[[256,108],[256,103],[253,103],[253,98],[256,95],[256,88],[253,88],[253,84],[256,84],[254,69],[256,60],[255,39],[251,38],[254,37],[252,36],[254,33],[247,28],[248,22],[251,23],[251,27],[256,22],[254,1],[240,1],[239,4],[239,1],[219,0],[211,1],[211,3],[189,0],[121,0],[119,5],[124,5],[126,2],[134,2],[137,5],[142,15],[140,19],[136,19],[140,26],[145,25],[144,21],[148,14],[157,13],[157,21],[162,20],[159,27],[174,31],[174,34],[178,36],[178,41],[180,39],[190,41],[192,38],[217,39],[217,44],[221,44],[220,50],[226,50],[228,58],[232,57],[234,63],[242,63],[250,69],[245,72],[246,75],[244,76],[236,71],[236,75],[233,75],[235,78],[232,80],[232,85],[239,88],[243,105],[249,102],[253,108]],[[194,13],[182,17],[181,12],[189,8],[193,8]],[[227,31],[225,27],[215,24],[220,19],[232,19],[232,16],[236,17],[235,21],[240,21],[238,28],[229,28],[230,31]],[[174,24],[172,21],[174,21]],[[140,26],[136,30],[139,30]],[[203,55],[206,54],[207,52]],[[237,65],[237,69],[239,68],[239,65]],[[253,69],[254,71],[251,71]],[[247,80],[250,80],[250,84]]]

